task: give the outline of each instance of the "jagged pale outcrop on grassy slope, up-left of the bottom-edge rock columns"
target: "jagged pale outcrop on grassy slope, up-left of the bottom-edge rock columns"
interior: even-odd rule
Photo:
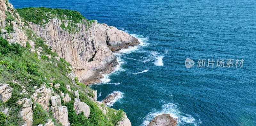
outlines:
[[[39,89],[36,89],[35,93],[32,95],[32,98],[43,106],[44,110],[49,111],[49,100],[52,97],[52,91],[50,88],[45,88],[42,86]]]

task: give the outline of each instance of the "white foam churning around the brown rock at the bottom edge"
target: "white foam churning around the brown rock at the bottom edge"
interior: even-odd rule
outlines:
[[[162,115],[164,113],[170,114],[173,118],[178,118],[177,125],[179,125],[179,124],[186,125],[186,123],[189,123],[189,124],[194,124],[195,126],[197,126],[197,124],[202,123],[202,122],[200,122],[200,120],[197,123],[196,119],[194,117],[192,117],[191,115],[180,112],[175,104],[167,103],[162,106],[162,109],[160,111],[153,111],[153,112],[148,113],[148,115],[145,117],[145,120],[142,122],[141,126],[147,126],[148,123],[153,118],[155,118],[157,115]]]

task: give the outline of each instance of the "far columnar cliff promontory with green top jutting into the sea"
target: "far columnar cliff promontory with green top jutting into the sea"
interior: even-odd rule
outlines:
[[[117,62],[112,51],[139,44],[128,33],[89,21],[77,11],[44,7],[17,10],[31,30],[73,66],[82,82],[94,83],[99,81],[100,72],[113,70]]]

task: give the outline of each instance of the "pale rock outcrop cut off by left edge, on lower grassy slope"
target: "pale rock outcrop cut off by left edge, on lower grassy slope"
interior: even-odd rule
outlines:
[[[4,102],[12,97],[11,88],[8,84],[0,84],[0,100]]]

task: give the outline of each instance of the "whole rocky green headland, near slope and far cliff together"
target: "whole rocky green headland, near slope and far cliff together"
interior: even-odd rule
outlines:
[[[1,123],[131,126],[122,110],[105,106],[119,94],[102,103],[84,84],[113,71],[112,51],[138,45],[136,38],[77,11],[0,6]]]

